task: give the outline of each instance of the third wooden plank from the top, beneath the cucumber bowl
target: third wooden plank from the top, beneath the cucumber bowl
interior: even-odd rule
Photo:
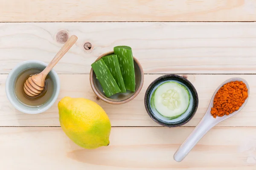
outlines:
[[[45,113],[28,115],[20,113],[9,103],[5,94],[7,75],[0,75],[0,126],[59,126],[57,103],[64,96],[84,97],[97,102],[108,113],[112,126],[159,126],[148,116],[144,95],[148,85],[161,75],[145,75],[140,94],[123,105],[110,105],[96,99],[89,75],[60,74],[61,91],[55,104]],[[199,106],[194,118],[185,126],[196,126],[204,116],[215,89],[226,79],[242,77],[250,85],[250,99],[243,110],[218,126],[256,126],[256,75],[185,75],[198,91]]]

